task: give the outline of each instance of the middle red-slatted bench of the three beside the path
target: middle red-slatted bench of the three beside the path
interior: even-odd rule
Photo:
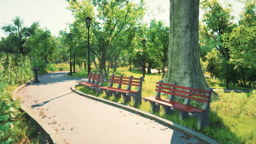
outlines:
[[[123,95],[123,102],[127,103],[133,98],[134,105],[141,104],[141,93],[142,93],[142,82],[143,76],[140,78],[135,78],[133,76],[124,77],[123,75],[115,76],[114,74],[110,75],[109,86],[107,87],[98,87],[103,89],[107,97],[111,97],[112,94],[114,98],[120,98]],[[113,83],[117,83],[117,87],[113,87]],[[126,89],[122,88],[122,85],[126,85]],[[132,91],[131,86],[137,87],[137,91]]]

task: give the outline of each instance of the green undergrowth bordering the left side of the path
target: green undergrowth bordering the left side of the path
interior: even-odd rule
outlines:
[[[33,77],[28,57],[15,60],[6,65],[0,59],[0,143],[40,143],[42,136],[19,111],[20,101],[11,100],[11,92]]]

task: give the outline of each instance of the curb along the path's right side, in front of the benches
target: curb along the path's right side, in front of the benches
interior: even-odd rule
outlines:
[[[98,97],[95,97],[94,95],[91,95],[91,94],[85,94],[83,92],[78,91],[75,88],[75,86],[71,87],[71,90],[74,93],[82,95],[83,97],[90,98],[90,99],[93,99],[93,100],[96,100],[96,101],[100,101],[100,102],[102,102],[104,104],[112,105],[112,106],[118,107],[120,109],[123,109],[123,110],[126,110],[126,111],[130,111],[132,113],[136,113],[137,115],[141,115],[143,117],[153,119],[154,121],[156,121],[156,122],[158,122],[160,124],[166,125],[167,127],[176,129],[178,131],[182,131],[183,133],[187,133],[187,134],[191,135],[192,137],[194,137],[195,139],[202,141],[203,143],[220,144],[216,140],[213,140],[213,139],[211,139],[210,137],[208,137],[206,135],[198,133],[198,132],[196,132],[196,131],[194,131],[194,130],[192,130],[190,128],[183,127],[182,125],[179,125],[177,123],[168,121],[167,119],[164,119],[162,117],[153,115],[152,113],[136,109],[135,107],[119,104],[119,103],[116,103],[114,101],[110,101],[110,100],[107,100],[107,99],[98,98]]]

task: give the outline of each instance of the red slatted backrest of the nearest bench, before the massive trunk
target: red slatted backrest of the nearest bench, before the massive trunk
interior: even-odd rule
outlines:
[[[184,104],[190,104],[190,100],[201,101],[202,103],[210,103],[211,88],[206,90],[196,89],[192,87],[178,86],[176,83],[168,84],[160,80],[156,83],[155,97],[160,98],[161,93],[169,94],[168,100],[174,100],[174,97],[185,98]]]

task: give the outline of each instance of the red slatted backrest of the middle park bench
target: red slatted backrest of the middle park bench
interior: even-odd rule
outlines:
[[[143,76],[135,78],[132,75],[125,77],[123,75],[115,76],[114,74],[110,75],[109,87],[113,87],[113,83],[118,83],[117,88],[121,88],[121,85],[127,85],[126,89],[131,90],[131,86],[137,87],[137,92],[141,92]]]

